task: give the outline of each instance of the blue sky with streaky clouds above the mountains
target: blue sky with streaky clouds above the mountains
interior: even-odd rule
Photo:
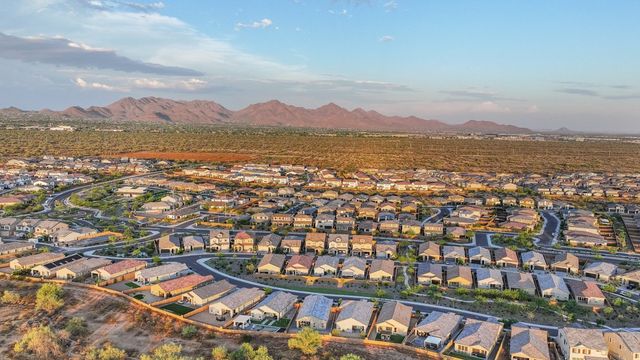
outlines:
[[[334,102],[640,133],[636,0],[0,0],[0,107]]]

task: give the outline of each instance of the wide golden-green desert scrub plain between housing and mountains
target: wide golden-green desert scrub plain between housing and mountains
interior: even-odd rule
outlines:
[[[329,136],[331,135],[331,136]],[[428,139],[260,129],[124,132],[0,130],[0,158],[35,155],[158,157],[305,164],[344,170],[431,168],[453,171],[640,171],[640,144],[612,141]],[[25,146],[29,144],[29,146]],[[184,153],[194,153],[183,155]]]

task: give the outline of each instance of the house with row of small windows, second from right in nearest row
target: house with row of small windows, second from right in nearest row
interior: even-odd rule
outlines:
[[[565,360],[604,360],[609,357],[609,347],[599,329],[561,328],[557,343]]]

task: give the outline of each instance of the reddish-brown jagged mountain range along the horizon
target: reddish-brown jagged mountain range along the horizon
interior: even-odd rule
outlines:
[[[0,110],[15,114],[22,110]],[[242,124],[254,126],[305,127],[322,129],[380,130],[399,132],[509,133],[528,134],[531,130],[492,121],[470,120],[450,125],[439,120],[415,116],[386,116],[373,110],[347,110],[334,103],[316,109],[288,105],[278,100],[249,105],[238,111],[205,100],[178,101],[157,97],[127,97],[110,105],[40,113],[74,119],[112,119],[160,124]]]

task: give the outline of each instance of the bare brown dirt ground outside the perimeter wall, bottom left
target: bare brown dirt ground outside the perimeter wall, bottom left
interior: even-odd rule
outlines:
[[[165,342],[182,344],[189,356],[210,357],[211,349],[225,345],[229,349],[239,346],[242,341],[250,341],[254,346],[266,345],[274,359],[300,359],[297,351],[289,350],[285,339],[267,337],[245,338],[222,334],[207,334],[203,330],[195,338],[185,340],[180,336],[181,325],[174,320],[137,309],[126,300],[98,291],[65,287],[65,305],[52,315],[34,310],[35,292],[38,284],[0,280],[0,291],[12,290],[20,293],[22,301],[18,305],[0,306],[0,358],[14,359],[13,344],[31,326],[48,324],[57,334],[61,334],[67,321],[75,316],[87,321],[88,331],[84,336],[65,341],[69,359],[82,359],[90,346],[100,346],[111,342],[127,351],[130,358],[149,352]],[[317,359],[333,359],[353,352],[366,359],[385,358],[387,360],[408,359],[415,354],[405,354],[395,350],[375,347],[361,347],[337,343],[327,343]]]

